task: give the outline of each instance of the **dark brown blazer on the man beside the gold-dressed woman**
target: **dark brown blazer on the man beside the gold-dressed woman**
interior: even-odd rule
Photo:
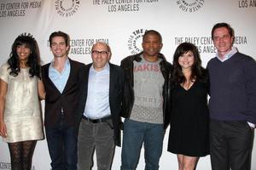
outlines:
[[[78,124],[77,109],[79,104],[79,90],[84,77],[85,65],[69,59],[70,74],[66,86],[61,92],[55,87],[55,84],[49,79],[49,65],[42,67],[42,77],[45,96],[44,125],[45,127],[55,127],[61,120],[61,108],[65,113],[64,122],[67,126]]]

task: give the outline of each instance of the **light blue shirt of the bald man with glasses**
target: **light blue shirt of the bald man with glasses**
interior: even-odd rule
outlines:
[[[90,66],[84,116],[90,119],[110,116],[108,63],[102,71],[96,71],[93,65]]]

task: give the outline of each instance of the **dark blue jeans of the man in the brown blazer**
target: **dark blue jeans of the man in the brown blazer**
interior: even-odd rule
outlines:
[[[61,121],[56,127],[45,127],[52,170],[77,170],[77,130]]]

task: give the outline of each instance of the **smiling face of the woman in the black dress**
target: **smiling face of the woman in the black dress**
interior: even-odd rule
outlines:
[[[195,63],[195,56],[192,51],[188,51],[178,57],[178,64],[182,67],[182,70],[191,70]]]

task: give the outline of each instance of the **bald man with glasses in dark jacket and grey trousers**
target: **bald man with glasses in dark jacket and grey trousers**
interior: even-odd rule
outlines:
[[[91,49],[93,62],[86,65],[79,115],[78,169],[90,170],[96,150],[98,170],[111,169],[115,145],[120,146],[120,110],[124,73],[109,63],[110,48],[97,42]]]

